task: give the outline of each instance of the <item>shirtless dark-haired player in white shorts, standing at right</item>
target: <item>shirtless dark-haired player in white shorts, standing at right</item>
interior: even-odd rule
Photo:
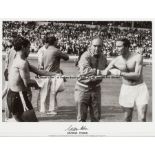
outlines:
[[[102,71],[103,75],[112,73],[122,76],[122,87],[120,91],[119,104],[125,111],[125,121],[132,120],[134,104],[137,106],[138,120],[146,121],[147,104],[149,93],[143,81],[143,56],[129,50],[130,41],[119,39],[116,48],[120,56],[116,57]]]

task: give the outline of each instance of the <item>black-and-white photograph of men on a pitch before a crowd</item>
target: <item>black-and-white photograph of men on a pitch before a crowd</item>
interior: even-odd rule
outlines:
[[[2,122],[152,115],[152,21],[2,21]]]

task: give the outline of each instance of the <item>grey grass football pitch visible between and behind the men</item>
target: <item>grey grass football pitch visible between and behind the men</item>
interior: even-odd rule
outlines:
[[[34,66],[37,66],[37,61],[35,59],[30,59],[29,62]],[[4,60],[3,67],[4,70]],[[75,67],[73,62],[61,62],[61,69],[64,71],[65,75],[78,75],[78,69]],[[152,66],[144,66],[144,81],[146,82],[149,93],[150,93],[150,103],[148,105],[147,111],[147,122],[152,121]],[[35,77],[32,73],[31,77]],[[4,77],[3,88],[4,88]],[[36,111],[36,115],[40,122],[76,122],[76,105],[74,102],[74,87],[76,79],[67,79],[65,82],[65,91],[58,94],[58,114],[47,115],[40,113],[37,110],[37,97],[38,90],[32,89],[33,97],[32,104]],[[122,122],[123,121],[123,110],[118,104],[118,98],[121,87],[121,78],[118,79],[103,79],[101,83],[102,87],[102,98],[101,98],[101,122]],[[5,102],[5,101],[3,101]],[[4,105],[4,104],[3,104]],[[89,115],[88,119],[89,121]],[[4,112],[3,112],[3,121],[4,121]],[[137,122],[137,112],[136,107],[133,113],[133,122]]]

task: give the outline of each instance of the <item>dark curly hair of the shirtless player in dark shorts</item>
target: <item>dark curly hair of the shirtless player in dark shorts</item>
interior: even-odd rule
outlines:
[[[13,46],[16,51],[20,51],[28,45],[30,45],[30,41],[24,37],[18,36],[13,40]]]

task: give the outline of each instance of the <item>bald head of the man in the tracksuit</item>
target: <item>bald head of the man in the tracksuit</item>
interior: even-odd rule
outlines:
[[[91,53],[98,56],[102,52],[103,41],[100,37],[95,37],[91,42]]]

